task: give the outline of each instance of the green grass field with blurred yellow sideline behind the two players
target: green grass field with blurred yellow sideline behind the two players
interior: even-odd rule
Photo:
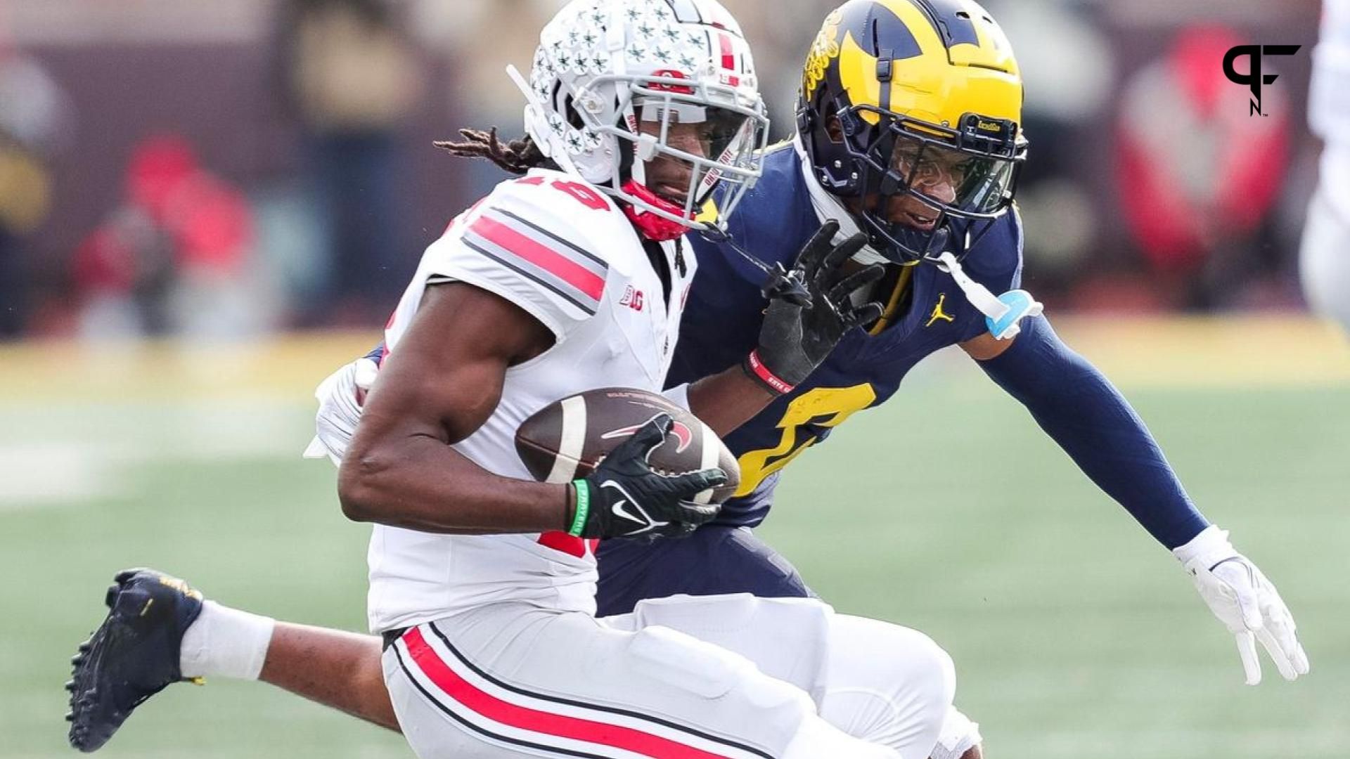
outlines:
[[[1350,756],[1350,351],[1301,323],[1264,324],[1282,352],[1260,359],[1208,327],[1154,327],[1066,332],[1281,586],[1307,679],[1268,664],[1245,687],[1177,563],[956,357],[795,462],[763,535],[841,610],[941,642],[994,759]],[[309,388],[364,344],[0,352],[0,758],[74,755],[61,683],[120,567],[363,627],[367,529],[342,519],[331,467],[297,452]],[[267,686],[213,681],[155,698],[101,755],[410,752]]]

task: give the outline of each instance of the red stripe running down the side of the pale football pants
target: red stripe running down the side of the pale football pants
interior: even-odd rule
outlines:
[[[408,654],[417,669],[436,683],[436,687],[458,704],[495,723],[556,737],[621,748],[659,759],[725,759],[721,754],[710,754],[639,729],[551,714],[502,701],[450,669],[423,637],[421,628],[414,627],[405,632],[402,642],[408,646]]]

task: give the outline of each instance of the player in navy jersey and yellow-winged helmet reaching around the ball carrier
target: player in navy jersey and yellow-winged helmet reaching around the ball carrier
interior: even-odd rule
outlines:
[[[849,0],[829,15],[806,61],[796,136],[768,150],[763,178],[725,226],[686,238],[699,269],[667,384],[744,361],[776,400],[725,435],[741,490],[716,521],[682,540],[601,544],[601,614],[679,593],[809,596],[791,563],[751,529],[770,511],[782,470],[855,412],[890,398],[925,357],[956,344],[1177,556],[1235,636],[1249,683],[1261,678],[1258,642],[1287,679],[1308,671],[1270,581],[1200,515],[1138,415],[1019,289],[1013,196],[1027,153],[1022,99],[1010,43],[971,0]],[[764,312],[791,286],[782,271],[828,220],[840,239],[865,235],[860,269],[886,265],[869,298],[884,313],[818,367],[774,371],[753,352]],[[340,416],[339,407],[350,419],[329,419],[328,434],[350,435],[358,373],[325,401],[320,438],[324,415]],[[265,667],[262,679],[392,727],[378,655],[375,639],[278,624],[266,651],[271,675]],[[362,662],[375,663],[373,677]]]

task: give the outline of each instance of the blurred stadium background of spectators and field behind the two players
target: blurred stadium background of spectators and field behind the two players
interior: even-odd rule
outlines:
[[[784,136],[836,3],[725,1]],[[559,4],[0,0],[0,756],[69,755],[66,658],[123,566],[363,625],[366,528],[297,455],[309,393],[497,181],[431,142],[518,134],[502,66]],[[1242,687],[1173,560],[961,358],[794,463],[764,533],[942,642],[994,759],[1350,756],[1350,351],[1297,278],[1318,3],[986,4],[1027,77],[1027,286],[1281,585],[1312,675]],[[1304,46],[1264,119],[1220,70],[1243,42]],[[410,755],[263,686],[177,690],[104,754]]]

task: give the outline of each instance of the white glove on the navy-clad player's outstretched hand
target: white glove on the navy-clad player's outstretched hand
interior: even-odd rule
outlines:
[[[1308,674],[1308,655],[1299,643],[1289,608],[1261,570],[1233,548],[1227,531],[1210,525],[1172,552],[1191,573],[1214,616],[1238,639],[1247,685],[1261,682],[1257,640],[1284,679]]]

